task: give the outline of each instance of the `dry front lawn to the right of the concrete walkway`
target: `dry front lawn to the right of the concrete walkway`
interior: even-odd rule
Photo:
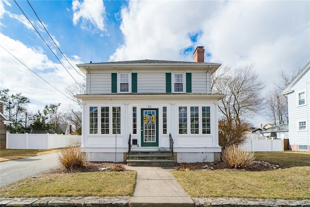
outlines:
[[[309,152],[259,152],[257,160],[289,168],[262,171],[172,171],[191,197],[310,199]]]

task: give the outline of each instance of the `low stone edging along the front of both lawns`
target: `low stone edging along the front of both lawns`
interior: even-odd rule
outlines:
[[[195,207],[310,207],[310,200],[191,198]],[[0,198],[0,207],[130,207],[129,196]]]

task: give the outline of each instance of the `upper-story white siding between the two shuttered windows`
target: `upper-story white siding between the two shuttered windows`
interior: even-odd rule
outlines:
[[[138,93],[166,93],[166,73],[138,73]]]

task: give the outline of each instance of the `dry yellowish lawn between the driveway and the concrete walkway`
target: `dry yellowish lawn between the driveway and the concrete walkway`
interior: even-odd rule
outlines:
[[[0,189],[0,197],[132,196],[137,173],[42,174]]]

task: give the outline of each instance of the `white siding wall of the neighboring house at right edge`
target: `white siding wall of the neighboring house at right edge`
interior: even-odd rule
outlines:
[[[294,85],[288,95],[289,140],[294,145],[310,145],[310,70]],[[298,93],[306,92],[307,105],[297,106]],[[298,131],[298,122],[307,121],[306,131]]]

